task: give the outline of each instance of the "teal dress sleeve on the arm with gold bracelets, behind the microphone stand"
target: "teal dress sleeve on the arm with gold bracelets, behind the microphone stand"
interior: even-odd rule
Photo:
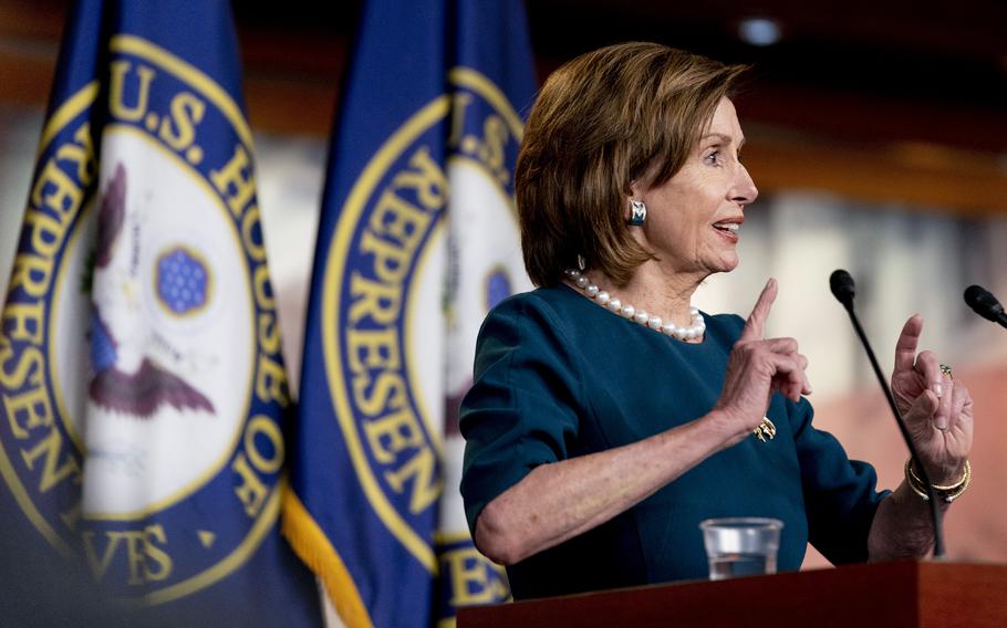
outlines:
[[[811,425],[813,410],[806,399],[790,404],[790,414],[808,540],[834,565],[865,562],[874,513],[891,491],[879,492],[874,468],[850,460],[835,437]]]

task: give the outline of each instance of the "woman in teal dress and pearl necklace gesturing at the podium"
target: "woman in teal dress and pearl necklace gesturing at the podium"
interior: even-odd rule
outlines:
[[[894,492],[811,423],[808,360],[747,318],[692,306],[738,264],[758,190],[740,161],[740,66],[652,43],[553,73],[516,172],[522,252],[539,287],[486,318],[461,409],[461,493],[477,547],[516,599],[705,578],[698,523],[783,522],[778,563],[810,541],[831,562],[923,556],[926,489]],[[941,507],[968,478],[973,406],[911,317],[892,388]]]

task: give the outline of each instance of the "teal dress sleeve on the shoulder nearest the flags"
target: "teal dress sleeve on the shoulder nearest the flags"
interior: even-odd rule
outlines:
[[[461,496],[475,534],[482,509],[539,464],[565,460],[579,431],[581,378],[544,305],[508,300],[482,324],[461,401]]]

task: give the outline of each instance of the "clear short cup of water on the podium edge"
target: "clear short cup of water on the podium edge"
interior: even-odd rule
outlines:
[[[780,547],[778,519],[733,516],[707,519],[699,523],[709,559],[709,579],[776,573],[776,554]]]

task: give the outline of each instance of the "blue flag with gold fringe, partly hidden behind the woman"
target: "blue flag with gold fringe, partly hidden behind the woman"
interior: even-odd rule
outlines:
[[[489,307],[530,286],[513,167],[536,88],[520,0],[366,2],[332,138],[284,533],[350,626],[508,599],[458,494]]]

